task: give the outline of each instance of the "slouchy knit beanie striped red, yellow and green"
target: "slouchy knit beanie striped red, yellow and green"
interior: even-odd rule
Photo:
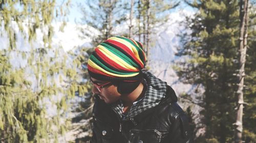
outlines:
[[[98,80],[138,81],[145,62],[140,42],[116,36],[96,47],[88,60],[88,72]]]

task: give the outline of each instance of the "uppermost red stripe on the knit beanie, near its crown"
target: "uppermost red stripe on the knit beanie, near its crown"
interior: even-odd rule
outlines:
[[[134,53],[131,51],[129,47],[124,45],[123,43],[114,41],[114,40],[106,40],[106,42],[109,42],[111,44],[117,45],[118,47],[122,48],[127,54],[132,56],[132,58],[140,65],[141,68],[143,68],[143,64],[137,59],[137,57],[134,55]],[[127,41],[128,42],[128,41]]]

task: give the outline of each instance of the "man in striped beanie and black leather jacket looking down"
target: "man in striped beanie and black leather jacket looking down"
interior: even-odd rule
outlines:
[[[88,60],[93,83],[92,143],[189,142],[187,118],[166,82],[142,72],[142,44],[112,37]]]

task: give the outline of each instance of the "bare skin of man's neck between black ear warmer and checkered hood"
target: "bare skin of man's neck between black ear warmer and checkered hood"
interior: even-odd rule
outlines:
[[[140,83],[139,86],[132,93],[121,96],[124,109],[128,109],[129,107],[131,107],[133,105],[133,102],[135,102],[140,97],[143,91],[143,87],[144,85]]]

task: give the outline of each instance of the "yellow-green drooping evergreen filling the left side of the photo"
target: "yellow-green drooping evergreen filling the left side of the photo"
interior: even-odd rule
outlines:
[[[9,48],[0,50],[1,142],[57,142],[66,130],[61,117],[67,111],[67,99],[76,91],[87,92],[87,87],[65,83],[77,72],[66,66],[67,55],[61,48],[51,45],[52,21],[65,20],[68,6],[69,2],[58,6],[55,1],[0,2],[1,35],[9,38],[9,43],[3,43]],[[40,47],[34,45],[37,30],[43,34]],[[20,33],[30,43],[27,50],[16,47]],[[56,107],[55,115],[47,112],[51,107]]]

